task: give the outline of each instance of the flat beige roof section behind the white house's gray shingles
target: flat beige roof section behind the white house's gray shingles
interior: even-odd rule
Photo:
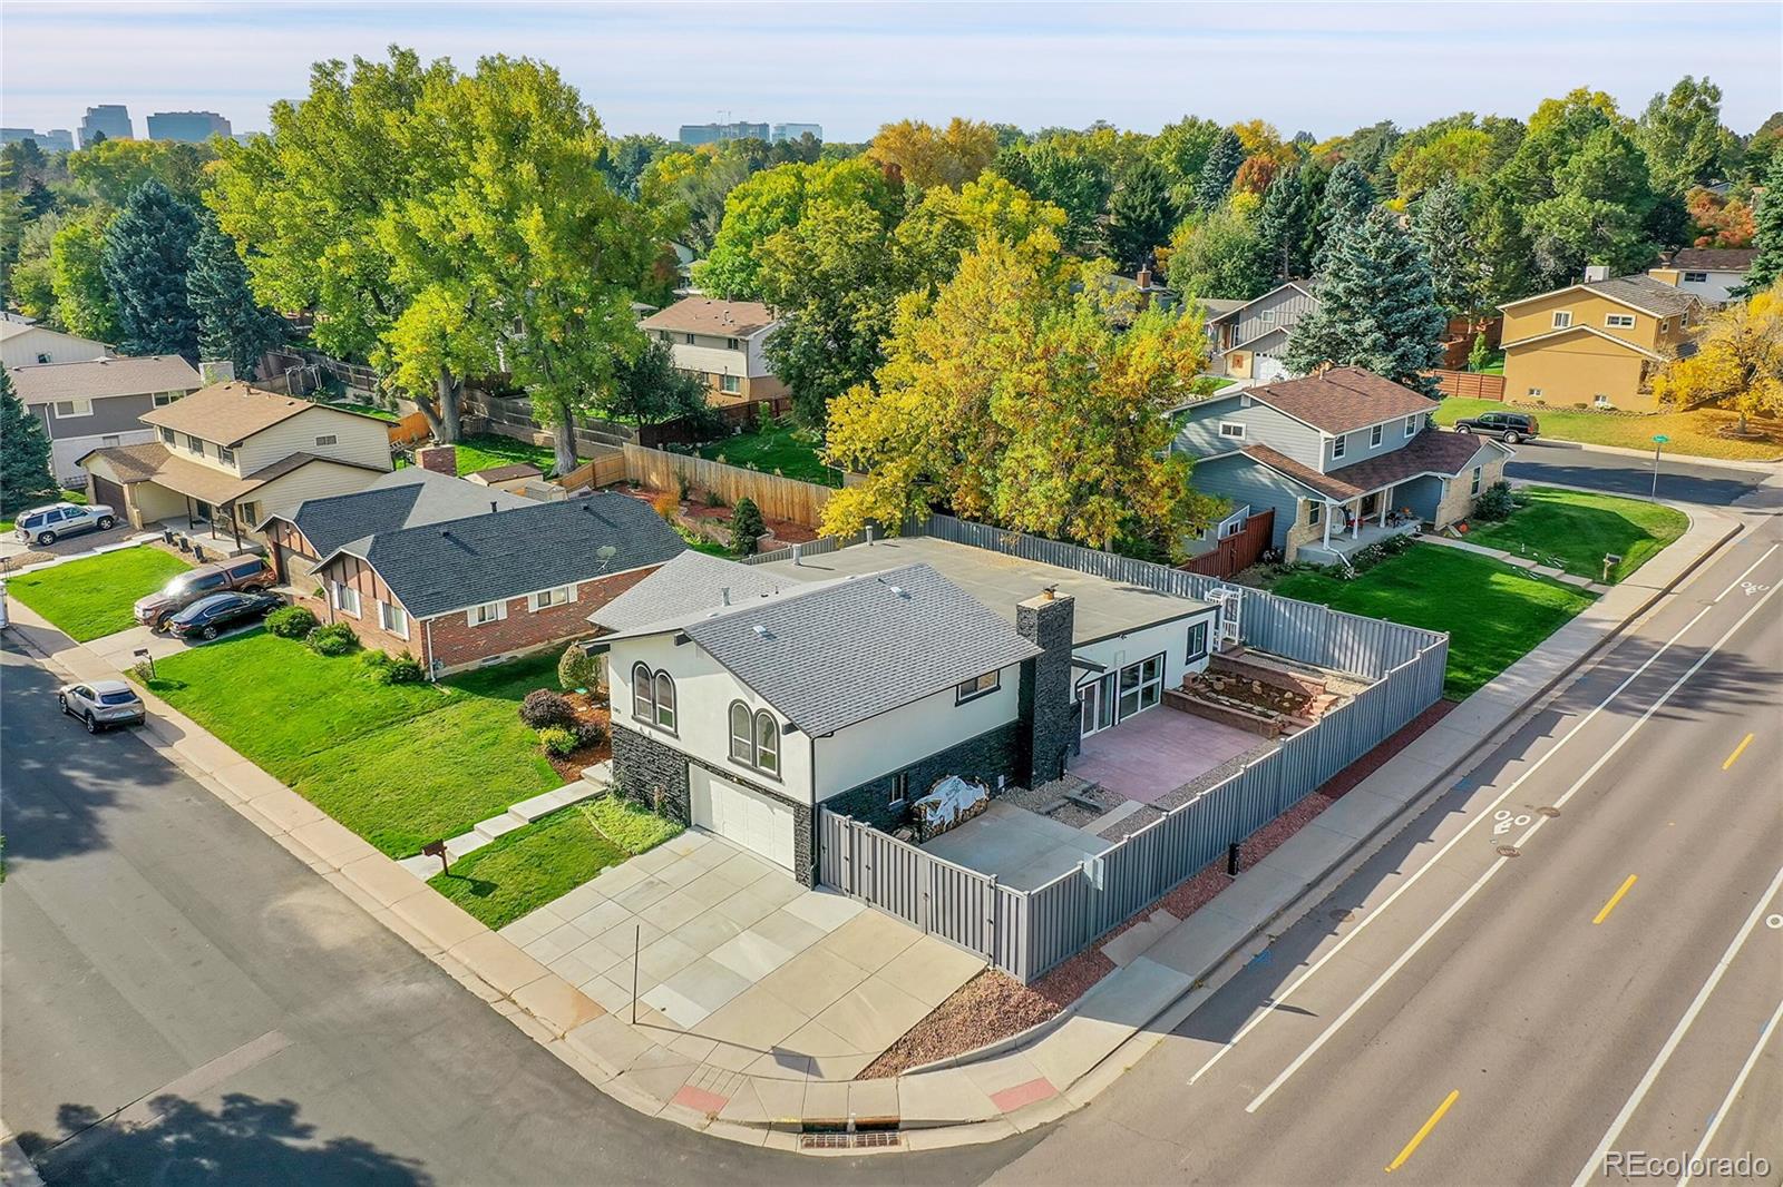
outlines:
[[[1015,622],[1016,602],[1038,597],[1048,585],[1057,586],[1059,594],[1077,599],[1072,642],[1079,647],[1212,608],[1211,602],[1195,597],[1159,594],[1143,585],[1109,581],[1075,569],[929,536],[893,536],[822,556],[806,556],[797,565],[783,560],[758,569],[792,581],[829,581],[916,563],[933,567],[1009,622]]]

